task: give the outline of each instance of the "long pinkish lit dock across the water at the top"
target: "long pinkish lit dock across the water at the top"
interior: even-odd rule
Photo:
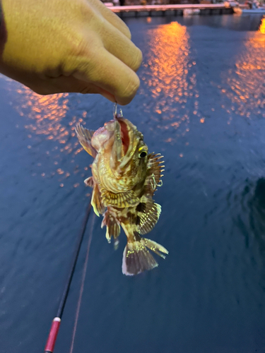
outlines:
[[[110,6],[109,8],[120,17],[183,16],[194,13],[200,13],[201,15],[226,15],[234,12],[231,6],[225,6],[225,4],[133,5]]]

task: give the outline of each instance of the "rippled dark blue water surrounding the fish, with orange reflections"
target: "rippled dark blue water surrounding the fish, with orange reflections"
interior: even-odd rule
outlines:
[[[139,94],[123,111],[165,155],[155,195],[163,211],[148,237],[170,254],[126,277],[124,234],[114,251],[95,218],[73,352],[264,352],[261,18],[126,23],[144,61]],[[41,97],[4,76],[0,90],[0,352],[42,352],[90,193],[83,179],[92,160],[73,127],[102,126],[112,104]],[[69,352],[87,241],[88,233],[55,353]]]

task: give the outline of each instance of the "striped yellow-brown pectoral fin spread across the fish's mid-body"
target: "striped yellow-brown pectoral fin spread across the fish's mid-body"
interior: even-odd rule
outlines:
[[[139,198],[131,190],[126,191],[126,193],[112,193],[112,191],[102,188],[101,197],[105,206],[115,206],[117,208],[131,207],[139,203]]]

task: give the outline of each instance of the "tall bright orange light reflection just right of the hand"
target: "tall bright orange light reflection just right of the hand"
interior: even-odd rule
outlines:
[[[172,129],[182,126],[183,135],[189,131],[189,116],[198,114],[199,104],[199,94],[195,87],[196,62],[189,59],[187,28],[172,22],[148,32],[151,40],[148,59],[143,64],[145,76],[141,77],[148,90],[144,88],[140,93],[151,93],[152,99],[148,100],[149,104],[145,104],[145,111],[151,113],[151,119],[158,121],[158,128],[170,133]],[[165,141],[173,140],[170,136]]]

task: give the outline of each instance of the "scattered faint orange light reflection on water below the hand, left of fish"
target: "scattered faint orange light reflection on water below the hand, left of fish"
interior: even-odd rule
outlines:
[[[25,125],[25,128],[30,131],[28,138],[33,138],[33,134],[36,136],[44,135],[46,140],[53,142],[50,150],[46,152],[47,155],[52,150],[57,152],[54,156],[56,160],[53,162],[55,169],[52,175],[59,174],[59,181],[68,178],[70,173],[59,168],[60,152],[67,155],[72,154],[73,157],[81,152],[82,148],[78,140],[73,138],[76,135],[74,128],[77,122],[83,122],[86,112],[83,112],[83,118],[72,116],[69,121],[69,119],[66,119],[66,113],[69,109],[67,105],[69,102],[68,93],[43,96],[37,95],[25,86],[20,86],[17,92],[20,95],[20,100],[15,104],[16,110],[20,116],[25,115],[32,120],[30,124]],[[86,123],[83,122],[83,124]],[[31,148],[31,146],[28,145],[28,148]],[[42,177],[45,175],[42,172]],[[64,184],[61,184],[61,186],[64,186]]]

